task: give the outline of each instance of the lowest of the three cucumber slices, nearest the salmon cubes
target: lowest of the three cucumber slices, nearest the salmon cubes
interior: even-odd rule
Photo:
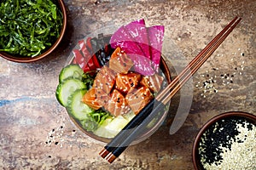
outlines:
[[[78,120],[87,119],[89,116],[88,114],[93,112],[93,110],[82,101],[85,93],[85,89],[78,89],[67,99],[68,114]]]

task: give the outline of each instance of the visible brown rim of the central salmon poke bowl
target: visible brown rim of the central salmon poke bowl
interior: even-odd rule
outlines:
[[[71,59],[71,61],[69,62],[69,64],[71,64],[72,61],[73,61],[73,59]],[[163,74],[165,75],[165,77],[166,77],[167,83],[169,84],[170,82],[172,82],[171,72],[170,72],[170,69],[169,69],[168,65],[166,64],[166,60],[165,60],[163,54],[161,54],[161,58],[160,58],[160,68],[161,68],[162,73],[163,73]],[[96,134],[85,130],[83,127],[81,127],[81,126],[79,125],[79,122],[76,121],[76,119],[73,118],[73,116],[70,116],[67,111],[66,111],[66,113],[67,113],[67,116],[69,117],[70,122],[72,122],[75,127],[78,127],[79,130],[80,130],[82,133],[84,133],[85,135],[89,136],[91,139],[95,139],[97,142],[100,142],[100,143],[103,143],[103,144],[107,144],[108,142],[111,141],[111,139],[97,136]],[[148,130],[147,133],[144,133],[144,134],[143,134],[142,136],[140,136],[138,139],[136,139],[135,141],[133,141],[133,142],[131,143],[131,145],[133,145],[133,144],[138,144],[138,143],[142,142],[144,139],[147,139],[147,138],[148,138],[148,135],[149,135],[149,136],[151,135],[151,133],[152,133],[151,131],[154,130],[155,127],[160,126],[161,122],[163,122],[163,121],[166,119],[166,114],[167,114],[167,113],[168,113],[168,111],[166,111],[165,113],[163,113],[163,114],[161,115],[159,121],[158,121],[157,123],[155,123],[153,127],[150,127],[150,130]]]

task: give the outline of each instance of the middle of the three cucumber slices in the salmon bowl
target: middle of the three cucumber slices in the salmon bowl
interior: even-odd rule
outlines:
[[[55,95],[60,104],[66,107],[68,97],[77,89],[82,88],[86,88],[84,82],[79,81],[79,79],[67,78],[59,83]]]

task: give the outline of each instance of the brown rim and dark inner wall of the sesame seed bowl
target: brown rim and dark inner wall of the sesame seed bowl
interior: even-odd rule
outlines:
[[[193,164],[195,169],[198,169],[198,170],[205,169],[201,163],[201,156],[199,155],[199,145],[201,142],[202,135],[206,133],[207,129],[211,127],[215,122],[218,122],[226,118],[232,119],[234,117],[245,118],[247,122],[256,124],[256,116],[246,112],[233,111],[233,112],[226,112],[218,116],[214,116],[210,121],[208,121],[205,125],[203,125],[203,127],[201,127],[200,132],[195,137],[195,142],[193,144],[193,151],[192,151],[192,159],[193,159]]]

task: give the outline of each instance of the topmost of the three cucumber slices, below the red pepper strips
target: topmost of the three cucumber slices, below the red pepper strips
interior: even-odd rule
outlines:
[[[82,80],[83,73],[84,71],[80,68],[79,65],[67,65],[61,70],[61,73],[59,75],[59,82],[63,82],[65,79],[69,77]]]

